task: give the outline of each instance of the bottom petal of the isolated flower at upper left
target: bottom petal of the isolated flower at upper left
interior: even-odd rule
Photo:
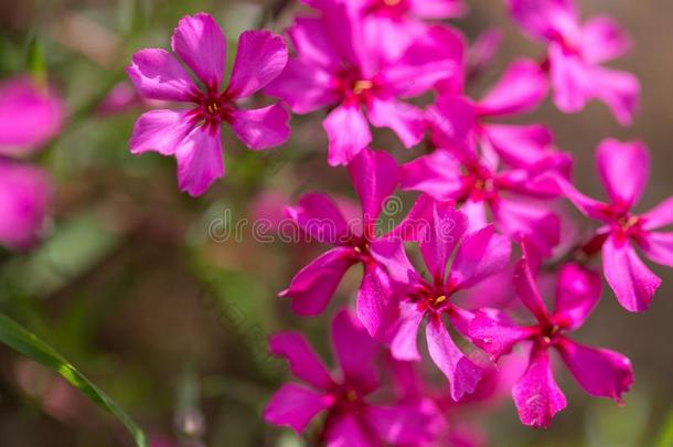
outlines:
[[[203,194],[213,182],[224,175],[220,129],[194,128],[178,146],[178,183],[180,191],[193,196]]]

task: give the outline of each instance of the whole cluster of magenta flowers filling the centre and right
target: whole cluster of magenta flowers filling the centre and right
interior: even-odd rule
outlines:
[[[141,50],[128,68],[142,97],[188,104],[146,113],[130,141],[133,153],[174,156],[182,191],[200,195],[224,174],[224,124],[252,150],[276,147],[289,138],[288,109],[327,114],[328,163],[348,167],[361,216],[320,193],[288,207],[299,228],[331,248],[280,292],[297,315],[318,316],[346,272],[362,266],[353,311],[342,304],[333,318],[340,368],[330,372],[299,333],[274,336],[271,353],[302,384],[284,385],[265,419],[299,433],[311,424],[330,447],[476,445],[480,436],[461,419],[463,405],[484,405],[504,390],[533,427],[546,427],[566,406],[551,350],[587,394],[621,403],[633,383],[630,361],[568,333],[601,297],[599,259],[619,302],[629,311],[648,308],[661,280],[635,247],[673,266],[673,233],[660,231],[673,223],[673,199],[633,211],[648,178],[642,142],[599,146],[603,203],[575,188],[573,157],[548,128],[496,121],[521,120],[552,92],[563,113],[598,99],[630,124],[638,79],[600,65],[622,55],[629,39],[608,18],[583,23],[571,0],[506,0],[515,23],[546,53],[513,61],[473,98],[466,86],[499,39],[490,33],[471,45],[441,21],[467,12],[461,0],[302,2],[305,12],[287,30],[291,55],[280,35],[243,33],[224,89],[225,39],[205,13],[179,22],[177,56]],[[255,93],[276,102],[241,108]],[[392,130],[416,157],[400,164],[370,148],[372,127]],[[419,195],[402,222],[382,230],[378,217],[396,191]],[[600,225],[583,233],[567,203]],[[415,253],[423,263],[409,260]],[[415,366],[426,356],[417,347],[421,327],[446,390]]]

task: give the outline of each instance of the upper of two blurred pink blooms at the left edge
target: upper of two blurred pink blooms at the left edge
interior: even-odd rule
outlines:
[[[0,156],[32,152],[63,126],[63,100],[29,77],[0,83]]]

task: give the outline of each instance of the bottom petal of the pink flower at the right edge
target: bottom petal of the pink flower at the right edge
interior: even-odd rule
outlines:
[[[647,310],[661,285],[629,243],[613,235],[602,245],[602,272],[619,304],[631,312]]]

